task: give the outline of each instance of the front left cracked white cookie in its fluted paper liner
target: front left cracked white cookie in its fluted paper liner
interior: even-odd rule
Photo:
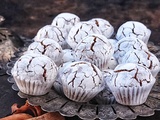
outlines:
[[[12,69],[20,91],[30,95],[49,92],[57,75],[57,66],[49,57],[40,54],[21,56]]]

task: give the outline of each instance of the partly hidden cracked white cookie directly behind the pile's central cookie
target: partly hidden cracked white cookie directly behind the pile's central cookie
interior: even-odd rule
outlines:
[[[101,31],[92,22],[80,22],[73,26],[68,34],[67,43],[72,49],[86,36],[101,34]]]

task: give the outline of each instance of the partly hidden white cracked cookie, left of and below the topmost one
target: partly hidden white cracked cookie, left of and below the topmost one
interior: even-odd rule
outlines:
[[[59,27],[46,25],[42,27],[35,36],[35,41],[41,41],[42,38],[50,38],[56,42],[58,42],[62,48],[68,48],[68,44],[66,42],[66,38],[68,33]]]

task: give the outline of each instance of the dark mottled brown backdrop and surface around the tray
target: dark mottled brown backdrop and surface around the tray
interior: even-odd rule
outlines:
[[[0,0],[0,15],[6,19],[1,27],[28,38],[33,38],[44,25],[51,24],[53,18],[61,12],[74,13],[81,20],[95,17],[107,19],[114,26],[115,32],[126,21],[139,21],[151,29],[150,41],[160,45],[160,0]],[[0,117],[10,113],[13,103],[24,101],[11,89],[6,78],[0,80],[0,91],[6,93],[0,94]],[[137,118],[158,119],[160,112],[151,117]]]

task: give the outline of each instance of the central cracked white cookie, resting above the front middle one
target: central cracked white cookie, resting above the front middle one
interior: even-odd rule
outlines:
[[[105,36],[90,34],[76,46],[75,59],[91,62],[103,70],[107,68],[108,60],[113,52],[114,49]]]

